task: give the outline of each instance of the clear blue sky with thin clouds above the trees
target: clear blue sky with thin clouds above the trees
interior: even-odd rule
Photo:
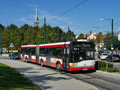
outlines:
[[[60,16],[83,1],[85,3]],[[46,17],[48,25],[59,26],[65,32],[69,27],[76,35],[90,31],[106,33],[111,32],[113,18],[114,32],[118,33],[120,28],[120,0],[1,0],[0,23],[34,26],[36,5],[40,26]]]

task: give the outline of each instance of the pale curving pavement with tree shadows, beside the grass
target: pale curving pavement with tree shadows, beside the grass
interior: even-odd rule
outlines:
[[[99,90],[93,85],[36,64],[9,59],[0,59],[0,63],[14,67],[42,90]]]

